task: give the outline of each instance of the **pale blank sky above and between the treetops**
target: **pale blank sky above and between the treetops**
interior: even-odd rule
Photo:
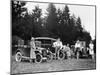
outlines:
[[[48,8],[48,3],[34,3],[27,2],[26,6],[28,11],[31,12],[35,6],[38,5],[42,9],[42,17],[46,16],[46,9]],[[92,39],[95,38],[95,7],[94,6],[82,6],[82,5],[69,5],[70,15],[75,15],[75,17],[80,17],[82,26],[87,30]],[[64,4],[55,4],[56,8],[63,9]]]

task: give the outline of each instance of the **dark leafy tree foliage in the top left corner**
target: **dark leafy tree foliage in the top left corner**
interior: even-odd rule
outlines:
[[[15,22],[17,19],[22,17],[22,13],[25,12],[27,9],[24,7],[25,2],[21,1],[11,1],[11,8],[12,8],[12,22]]]

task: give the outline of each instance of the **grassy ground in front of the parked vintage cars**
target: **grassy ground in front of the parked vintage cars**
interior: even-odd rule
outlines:
[[[16,62],[11,61],[11,74],[16,73],[36,73],[51,71],[70,71],[70,70],[89,70],[96,69],[96,62],[92,59],[66,59],[53,60],[52,62],[42,62],[40,64],[30,63],[28,61]]]

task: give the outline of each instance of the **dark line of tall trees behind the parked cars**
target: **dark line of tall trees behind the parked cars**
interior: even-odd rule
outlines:
[[[60,38],[64,44],[74,44],[76,40],[84,40],[89,44],[90,33],[81,23],[81,18],[70,14],[68,5],[62,9],[49,3],[46,16],[42,17],[42,9],[35,6],[31,14],[25,7],[27,2],[12,1],[12,36],[30,40],[31,37]],[[86,11],[84,11],[86,12]]]

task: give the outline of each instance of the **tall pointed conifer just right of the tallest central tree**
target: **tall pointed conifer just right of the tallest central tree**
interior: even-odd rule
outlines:
[[[65,5],[64,9],[62,10],[61,13],[61,19],[60,19],[60,37],[62,41],[66,44],[70,43],[70,32],[71,26],[70,26],[70,14],[69,14],[69,7]],[[65,42],[66,41],[66,42]]]

